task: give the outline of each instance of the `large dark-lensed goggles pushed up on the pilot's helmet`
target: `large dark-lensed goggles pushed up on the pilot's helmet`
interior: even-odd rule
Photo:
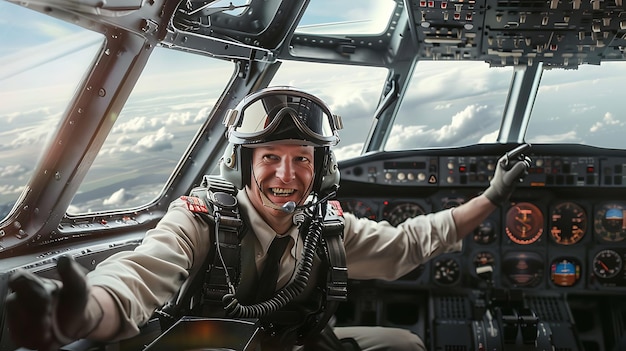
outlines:
[[[285,129],[291,119],[296,133]],[[245,97],[224,117],[228,140],[235,144],[261,144],[284,139],[303,139],[314,146],[334,146],[341,117],[333,115],[319,98],[290,87],[272,87]],[[297,135],[296,135],[297,134]]]

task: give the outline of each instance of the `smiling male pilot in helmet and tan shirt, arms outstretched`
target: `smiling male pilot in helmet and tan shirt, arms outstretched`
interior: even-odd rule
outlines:
[[[291,316],[287,327],[273,330],[280,323],[267,320],[291,309],[307,311],[305,315],[316,316],[313,321],[328,324],[330,318],[324,317],[323,304],[332,300],[327,298],[329,279],[320,274],[336,265],[341,276],[341,258],[345,257],[343,266],[349,278],[394,280],[438,254],[459,250],[462,239],[507,201],[530,167],[528,157],[505,155],[482,194],[458,207],[416,216],[394,227],[386,221],[342,213],[336,201],[329,201],[339,182],[331,147],[339,141],[341,124],[319,98],[292,87],[265,88],[245,97],[228,112],[226,120],[229,146],[221,160],[220,175],[236,189],[236,208],[243,224],[237,234],[239,245],[234,245],[239,248],[240,269],[233,271],[240,273],[226,277],[229,290],[222,298],[221,310],[226,317],[258,318],[263,335],[260,342],[265,345],[262,350],[291,350],[294,345],[323,350],[324,346],[316,344],[322,337],[317,336],[327,337],[329,329],[334,331],[329,340],[339,340],[339,344],[331,343],[335,346],[326,349],[424,350],[418,335],[401,328],[331,329],[317,326],[311,319],[302,321],[300,313],[299,317],[287,314]],[[221,227],[215,225],[217,214],[209,216],[212,221],[200,215],[206,212],[205,207],[211,207],[210,199],[191,195],[173,201],[133,251],[114,254],[89,273],[71,257],[61,256],[57,261],[59,280],[44,279],[26,270],[12,274],[6,306],[15,343],[52,350],[83,338],[126,339],[138,334],[141,326],[158,314],[155,311],[163,311],[168,302],[185,295],[181,295],[181,286],[188,286],[191,272],[206,265],[208,256],[220,254],[217,250],[216,255],[220,245],[214,240],[221,236],[213,234],[228,228],[223,221]],[[329,203],[333,205],[329,207]],[[316,243],[329,245],[318,239],[320,234],[326,235],[320,229],[326,230],[326,226],[318,222],[320,218],[325,221],[329,213],[341,224],[341,233],[336,235],[339,241],[335,241],[340,247],[314,249],[310,254],[307,250]],[[278,255],[279,268],[274,269],[278,276],[263,278],[268,249],[277,238],[286,239],[281,240],[286,241],[286,247]],[[323,253],[333,250],[339,252],[340,259],[323,264]],[[222,263],[225,269],[220,274],[226,275],[224,271],[230,271],[232,263]],[[196,276],[207,279],[205,274]],[[253,296],[267,285],[272,286],[270,297]],[[294,308],[300,305],[307,307]],[[183,309],[179,313],[188,312]],[[307,334],[310,330],[318,334]]]

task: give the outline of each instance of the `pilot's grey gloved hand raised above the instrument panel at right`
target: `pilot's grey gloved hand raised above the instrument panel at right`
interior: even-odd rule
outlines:
[[[489,188],[485,190],[485,196],[495,205],[506,202],[517,183],[524,180],[530,168],[530,157],[523,152],[530,144],[523,144],[500,157],[496,163],[496,170],[491,179]]]

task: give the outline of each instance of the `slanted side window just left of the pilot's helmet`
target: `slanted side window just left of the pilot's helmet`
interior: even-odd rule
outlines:
[[[156,199],[233,70],[230,62],[155,48],[67,212]]]

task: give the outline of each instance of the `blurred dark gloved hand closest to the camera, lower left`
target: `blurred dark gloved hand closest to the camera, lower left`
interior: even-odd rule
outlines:
[[[57,261],[61,281],[17,270],[9,278],[7,321],[17,346],[36,350],[59,347],[87,336],[103,316],[90,294],[85,270],[70,256]]]

